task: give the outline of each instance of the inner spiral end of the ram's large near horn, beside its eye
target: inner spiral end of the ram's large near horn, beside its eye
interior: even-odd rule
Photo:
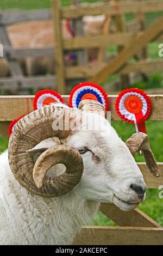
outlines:
[[[57,178],[45,176],[47,170],[58,163],[66,166],[65,172]],[[53,196],[61,196],[72,190],[79,183],[82,174],[82,156],[77,149],[68,145],[59,145],[47,149],[39,156],[33,169],[33,179],[37,188],[40,189],[43,184],[48,184]]]

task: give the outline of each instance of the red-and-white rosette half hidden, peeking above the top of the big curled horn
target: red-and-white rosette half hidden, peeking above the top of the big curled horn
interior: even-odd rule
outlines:
[[[65,104],[64,99],[62,99],[61,95],[54,90],[40,90],[36,93],[33,101],[34,109],[41,108],[46,105],[51,105],[51,103],[61,103]]]

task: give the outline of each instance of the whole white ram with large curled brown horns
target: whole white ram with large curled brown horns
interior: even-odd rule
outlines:
[[[54,129],[61,117],[66,125],[78,118],[76,128]],[[100,129],[87,129],[93,121]],[[0,156],[0,244],[68,245],[96,216],[100,202],[135,209],[146,190],[131,155],[140,149],[158,175],[147,136],[135,133],[122,142],[95,101],[82,101],[80,110],[51,105],[26,115]]]

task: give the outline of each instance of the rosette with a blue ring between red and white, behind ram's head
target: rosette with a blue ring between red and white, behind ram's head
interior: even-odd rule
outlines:
[[[74,87],[70,94],[70,107],[78,108],[82,100],[96,100],[102,103],[106,111],[108,110],[108,95],[105,90],[96,83],[84,82]]]

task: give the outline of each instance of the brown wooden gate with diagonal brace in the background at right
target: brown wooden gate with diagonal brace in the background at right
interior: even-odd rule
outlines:
[[[120,16],[124,14],[145,14],[150,12],[163,11],[162,1],[132,1],[132,2],[114,2],[114,3],[96,3],[81,4],[79,7],[61,8],[59,0],[53,0],[53,20],[55,32],[55,55],[57,56],[57,81],[59,84],[58,91],[61,94],[66,92],[66,77],[76,76],[76,78],[87,77],[90,81],[103,83],[111,75],[120,72],[121,75],[127,75],[130,72],[152,72],[163,69],[163,60],[149,59],[138,60],[129,63],[131,57],[135,57],[149,42],[161,42],[163,40],[163,17],[160,17],[153,25],[139,32],[128,32],[119,29],[119,32],[74,36],[71,39],[62,39],[60,33],[61,19],[82,19],[84,15],[105,14],[110,16]],[[65,68],[64,51],[65,50],[82,50],[87,48],[100,48],[109,45],[121,47],[117,56],[108,63],[95,63],[72,66]]]

